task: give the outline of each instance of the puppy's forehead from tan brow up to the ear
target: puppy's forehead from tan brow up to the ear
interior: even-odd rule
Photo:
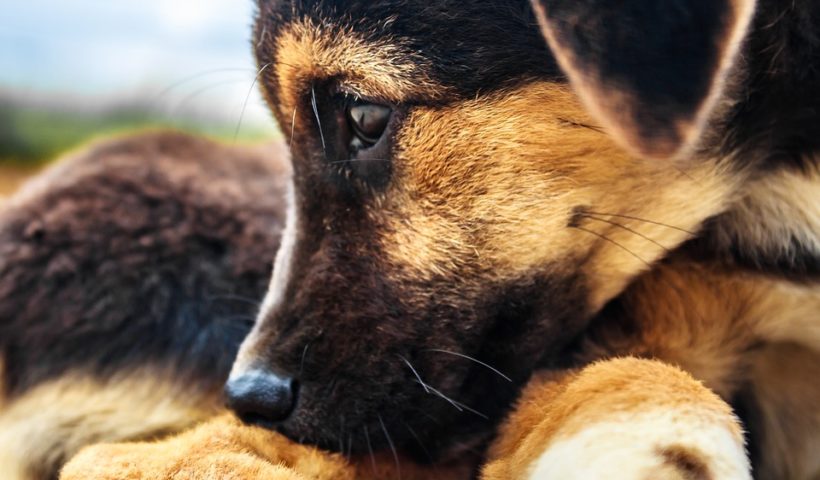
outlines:
[[[429,86],[423,80],[470,97],[520,79],[562,77],[526,0],[259,1],[259,42],[279,39],[281,49],[283,36],[305,34],[306,27],[334,50],[337,63],[361,68],[367,55],[359,53],[377,54],[383,61],[366,67],[376,74],[400,67],[390,73],[413,78],[418,89]],[[284,61],[272,50],[258,52],[260,62]]]

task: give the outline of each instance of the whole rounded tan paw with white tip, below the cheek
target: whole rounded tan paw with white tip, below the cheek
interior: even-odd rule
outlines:
[[[743,434],[729,406],[687,373],[634,358],[533,381],[482,475],[751,478]]]

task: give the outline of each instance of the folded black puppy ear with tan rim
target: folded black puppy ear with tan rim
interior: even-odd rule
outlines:
[[[746,35],[754,0],[532,0],[590,112],[643,157],[698,140]]]

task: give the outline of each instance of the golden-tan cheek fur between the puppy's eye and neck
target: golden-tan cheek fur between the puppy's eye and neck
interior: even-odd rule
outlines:
[[[391,211],[388,262],[421,278],[582,263],[597,309],[726,207],[734,179],[714,162],[683,171],[638,160],[580,126],[589,122],[567,87],[546,82],[414,109],[398,139],[400,180],[380,206]],[[568,227],[576,207],[592,212],[583,230]]]

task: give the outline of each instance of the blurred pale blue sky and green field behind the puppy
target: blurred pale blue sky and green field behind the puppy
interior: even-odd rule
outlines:
[[[111,133],[158,126],[229,142],[274,137],[253,85],[253,10],[252,0],[4,2],[0,195]]]

